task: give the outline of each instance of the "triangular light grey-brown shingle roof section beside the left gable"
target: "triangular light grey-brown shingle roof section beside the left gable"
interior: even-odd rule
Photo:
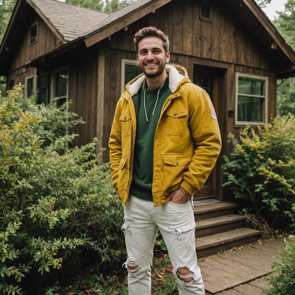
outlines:
[[[109,14],[56,0],[32,0],[66,41],[92,31]]]

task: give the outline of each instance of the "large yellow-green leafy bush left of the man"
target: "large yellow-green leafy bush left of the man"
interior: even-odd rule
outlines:
[[[70,103],[37,106],[22,89],[0,97],[0,292],[53,294],[121,259],[122,207],[97,140],[69,147],[82,123]]]

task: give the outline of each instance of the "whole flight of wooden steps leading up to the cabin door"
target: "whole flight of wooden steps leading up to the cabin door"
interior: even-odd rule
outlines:
[[[259,231],[243,227],[245,217],[234,214],[232,202],[194,202],[197,257],[238,247],[257,240]]]

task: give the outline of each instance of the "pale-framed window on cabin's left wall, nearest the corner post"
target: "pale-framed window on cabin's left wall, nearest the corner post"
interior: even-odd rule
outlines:
[[[67,101],[67,94],[68,94],[68,69],[64,68],[58,71],[54,71],[52,74],[52,81],[53,81],[53,96],[58,97],[59,100],[57,101],[57,107],[60,107],[62,104]]]

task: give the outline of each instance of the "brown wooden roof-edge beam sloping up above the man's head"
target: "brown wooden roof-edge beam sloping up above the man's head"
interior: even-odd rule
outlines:
[[[91,45],[108,37],[109,35],[112,35],[118,32],[119,30],[122,30],[124,27],[132,24],[132,22],[135,22],[137,19],[144,17],[145,15],[153,12],[153,10],[160,8],[161,6],[169,3],[170,1],[171,0],[155,0],[146,3],[139,9],[136,9],[124,15],[124,17],[122,17],[121,19],[117,19],[116,21],[107,24],[105,27],[102,27],[99,30],[96,30],[95,32],[86,36],[84,39],[86,46],[90,47]]]

